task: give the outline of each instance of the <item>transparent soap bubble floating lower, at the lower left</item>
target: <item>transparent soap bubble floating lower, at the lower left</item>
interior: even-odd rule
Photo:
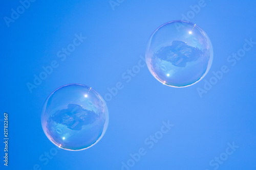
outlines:
[[[104,135],[109,112],[91,87],[69,84],[53,91],[41,113],[46,136],[59,148],[71,151],[92,147]]]

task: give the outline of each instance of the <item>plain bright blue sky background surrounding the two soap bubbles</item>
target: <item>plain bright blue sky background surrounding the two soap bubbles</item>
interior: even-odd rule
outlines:
[[[191,17],[214,47],[211,69],[199,83],[168,87],[146,66],[130,82],[122,78],[138,65],[156,28],[181,19],[198,3],[119,0],[113,10],[108,0],[35,1],[8,27],[4,17],[11,18],[20,2],[3,1],[0,126],[3,129],[4,112],[9,113],[10,139],[8,167],[3,165],[4,144],[0,144],[1,169],[119,170],[140,148],[146,154],[130,169],[256,169],[256,44],[234,66],[227,61],[243,48],[245,39],[256,41],[255,1],[205,0],[206,5]],[[87,38],[61,61],[57,52],[80,33]],[[58,67],[30,92],[27,83],[54,60]],[[204,81],[214,76],[212,71],[223,65],[229,71],[201,98],[197,89],[203,89]],[[117,82],[123,88],[107,102],[110,122],[103,138],[88,150],[56,150],[40,123],[47,96],[62,85],[80,83],[104,97]],[[150,149],[144,141],[168,120],[174,127]],[[227,143],[233,142],[239,148],[217,163],[215,157],[225,156]],[[49,158],[45,154],[50,151],[57,153]]]

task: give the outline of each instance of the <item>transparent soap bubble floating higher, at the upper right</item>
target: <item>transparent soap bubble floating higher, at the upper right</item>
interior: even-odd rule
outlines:
[[[199,82],[209,71],[213,52],[206,33],[195,23],[170,21],[151,36],[146,64],[161,83],[185,87]]]

